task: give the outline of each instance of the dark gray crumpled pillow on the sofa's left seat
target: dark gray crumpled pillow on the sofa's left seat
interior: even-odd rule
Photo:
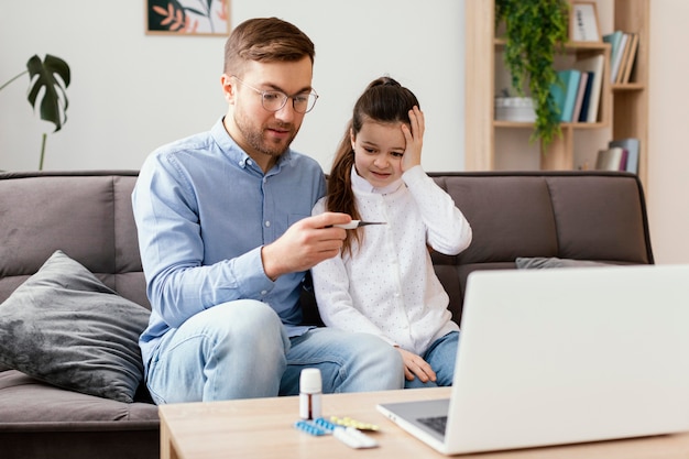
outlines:
[[[56,251],[0,305],[0,364],[70,391],[131,403],[149,309]]]

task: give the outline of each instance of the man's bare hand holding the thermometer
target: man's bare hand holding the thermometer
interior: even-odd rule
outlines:
[[[347,232],[331,226],[350,221],[350,216],[338,212],[325,212],[297,221],[275,242],[263,247],[261,258],[265,274],[274,281],[282,274],[306,271],[337,255]]]

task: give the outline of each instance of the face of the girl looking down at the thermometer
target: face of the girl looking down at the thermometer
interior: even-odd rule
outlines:
[[[402,177],[402,155],[406,147],[401,122],[365,121],[359,134],[350,134],[357,173],[382,188]]]

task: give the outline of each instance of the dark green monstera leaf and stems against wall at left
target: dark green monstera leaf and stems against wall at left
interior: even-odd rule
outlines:
[[[29,74],[29,103],[31,103],[31,107],[35,110],[36,101],[40,98],[41,119],[55,124],[53,132],[59,131],[67,122],[67,107],[69,103],[67,101],[66,89],[70,80],[69,65],[59,57],[55,57],[51,54],[46,54],[43,61],[41,61],[37,55],[33,55],[26,62],[26,69],[0,86],[0,90],[25,74]],[[46,138],[47,133],[43,133],[39,171],[43,170]]]

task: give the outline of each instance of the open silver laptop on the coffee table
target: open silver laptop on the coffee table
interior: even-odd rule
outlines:
[[[689,265],[474,272],[453,381],[378,409],[446,455],[689,430]]]

